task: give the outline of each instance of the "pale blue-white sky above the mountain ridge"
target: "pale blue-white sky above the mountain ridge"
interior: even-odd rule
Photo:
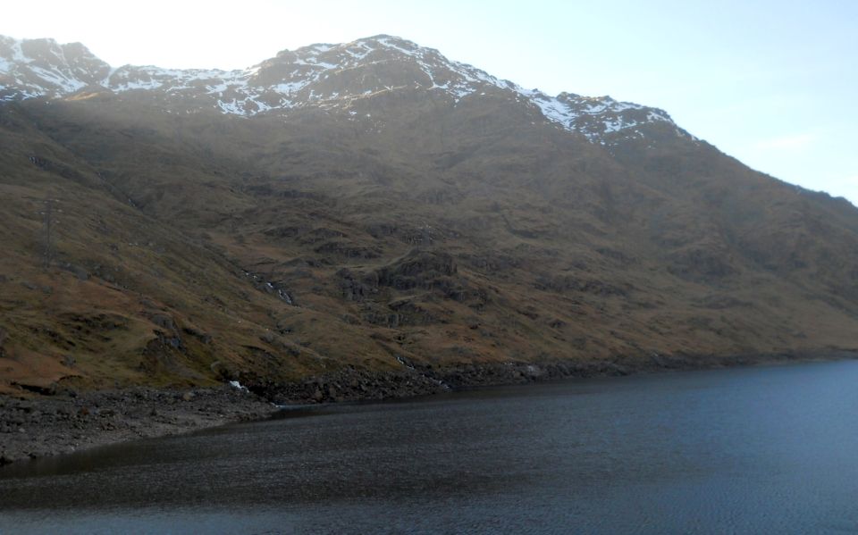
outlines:
[[[114,66],[241,69],[377,34],[526,88],[667,111],[758,171],[858,205],[858,2],[4,3],[0,35],[80,41]]]

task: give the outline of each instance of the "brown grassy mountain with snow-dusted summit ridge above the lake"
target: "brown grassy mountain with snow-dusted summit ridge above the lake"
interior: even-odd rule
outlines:
[[[0,389],[324,399],[858,347],[854,206],[659,109],[391,36],[245,71],[0,38],[0,100]]]

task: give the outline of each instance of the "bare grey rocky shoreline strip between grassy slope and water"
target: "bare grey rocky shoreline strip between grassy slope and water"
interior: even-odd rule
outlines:
[[[800,364],[858,358],[831,350],[721,357],[657,357],[635,366],[617,362],[460,364],[443,369],[403,363],[401,372],[345,368],[300,382],[248,380],[248,392],[229,385],[199,389],[133,388],[79,395],[0,395],[0,470],[4,464],[63,455],[134,439],[201,431],[263,420],[297,406],[426,397],[442,392],[534,382],[632,374]],[[248,378],[249,379],[249,378]],[[244,382],[242,380],[242,382]]]

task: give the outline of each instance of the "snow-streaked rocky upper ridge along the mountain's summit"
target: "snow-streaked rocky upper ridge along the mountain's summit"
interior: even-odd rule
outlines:
[[[79,43],[0,37],[0,101],[60,98],[96,89],[159,92],[185,113],[215,108],[245,117],[307,107],[354,113],[362,99],[403,91],[441,96],[452,105],[501,92],[593,143],[643,137],[641,127],[653,123],[690,137],[661,110],[609,96],[548,96],[391,36],[285,50],[243,71],[131,65],[112,70]]]

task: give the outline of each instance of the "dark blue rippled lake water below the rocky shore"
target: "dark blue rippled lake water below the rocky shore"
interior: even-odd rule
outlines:
[[[489,389],[0,469],[0,533],[858,533],[858,362]]]

